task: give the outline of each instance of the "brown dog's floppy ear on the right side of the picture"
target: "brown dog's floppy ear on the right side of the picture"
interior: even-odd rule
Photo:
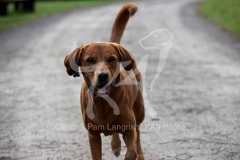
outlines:
[[[122,63],[124,69],[127,71],[134,69],[136,64],[132,54],[118,43],[111,44],[116,48],[120,57],[120,62]]]

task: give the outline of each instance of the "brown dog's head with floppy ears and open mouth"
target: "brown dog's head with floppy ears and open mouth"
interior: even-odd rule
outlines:
[[[110,91],[110,85],[119,74],[120,64],[129,71],[134,68],[135,61],[125,48],[110,42],[82,45],[64,59],[69,75],[75,74],[80,67],[84,79],[90,83],[88,85],[105,94]]]

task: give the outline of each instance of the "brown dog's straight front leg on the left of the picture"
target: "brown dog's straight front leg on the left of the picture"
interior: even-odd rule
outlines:
[[[102,160],[102,140],[100,134],[88,132],[89,144],[93,160]]]

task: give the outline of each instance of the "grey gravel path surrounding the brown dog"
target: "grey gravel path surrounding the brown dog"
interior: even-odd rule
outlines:
[[[157,113],[146,114],[142,125],[149,160],[240,159],[240,43],[199,15],[200,1],[136,1],[139,11],[122,39],[138,62],[149,56],[147,72],[142,70],[146,107]],[[67,76],[63,58],[75,44],[107,41],[122,5],[57,14],[0,35],[1,160],[91,159],[79,107],[81,80]],[[168,29],[174,39],[150,91],[160,50],[145,50],[139,39],[155,29]],[[123,146],[118,159],[125,152]],[[103,136],[103,159],[117,159],[110,137]]]

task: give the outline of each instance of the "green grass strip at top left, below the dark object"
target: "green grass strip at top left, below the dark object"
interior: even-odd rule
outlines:
[[[10,3],[8,5],[8,15],[0,16],[0,32],[37,17],[43,17],[61,11],[72,10],[79,7],[105,4],[109,2],[113,1],[37,1],[35,3],[35,12],[33,13],[15,11],[13,3]]]

